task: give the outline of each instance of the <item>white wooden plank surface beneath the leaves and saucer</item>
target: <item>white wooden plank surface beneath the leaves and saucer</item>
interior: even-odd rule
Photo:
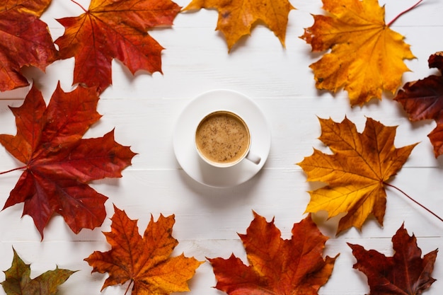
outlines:
[[[88,7],[88,1],[80,1]],[[100,294],[105,274],[91,274],[84,262],[94,250],[108,250],[101,231],[110,231],[109,218],[113,204],[125,209],[131,219],[139,219],[144,231],[150,214],[176,214],[173,236],[179,245],[174,255],[184,252],[198,260],[228,258],[231,253],[245,258],[236,233],[246,233],[253,219],[252,211],[267,218],[275,216],[275,224],[284,238],[290,237],[292,225],[306,215],[309,202],[306,176],[295,163],[310,156],[313,147],[324,149],[318,117],[332,117],[340,122],[345,115],[355,122],[360,132],[366,117],[384,125],[398,125],[397,147],[420,141],[405,166],[390,183],[400,187],[437,214],[443,216],[443,159],[435,158],[427,134],[435,122],[411,123],[401,106],[390,97],[372,101],[364,107],[350,108],[347,93],[335,96],[317,91],[309,64],[320,54],[311,54],[310,45],[299,39],[303,29],[313,23],[311,13],[321,11],[321,1],[291,1],[297,8],[289,13],[286,48],[264,25],[254,28],[228,54],[224,37],[215,31],[217,11],[201,10],[180,13],[171,28],[158,28],[151,35],[166,48],[163,51],[163,74],[143,72],[132,76],[120,62],[113,62],[113,86],[101,96],[98,112],[102,119],[86,134],[100,137],[115,127],[116,141],[132,146],[133,165],[123,171],[123,178],[93,182],[92,186],[109,197],[108,218],[100,229],[72,233],[61,216],[54,216],[45,229],[45,239],[35,229],[32,219],[23,216],[22,204],[0,212],[0,270],[11,267],[14,247],[21,258],[32,263],[32,277],[52,270],[56,265],[79,270],[59,287],[59,294]],[[186,6],[189,1],[176,1]],[[386,23],[415,0],[387,0]],[[384,4],[384,3],[381,3]],[[53,0],[42,20],[50,26],[55,40],[64,29],[55,18],[78,16],[81,8],[71,1]],[[430,54],[443,50],[443,2],[425,0],[402,16],[391,27],[405,36],[405,42],[418,59],[407,61],[412,70],[403,81],[422,79],[435,70],[428,69]],[[46,74],[27,69],[26,76],[38,84],[46,100],[50,99],[57,81],[64,91],[71,91],[74,59],[50,65]],[[173,153],[172,132],[176,119],[187,103],[205,91],[228,88],[252,98],[267,117],[272,132],[270,155],[263,169],[254,178],[237,187],[215,189],[192,180],[178,165]],[[19,106],[28,88],[0,93],[0,133],[15,134],[13,115],[8,105]],[[0,149],[0,170],[19,165],[3,148]],[[0,176],[0,201],[6,198],[21,171]],[[321,231],[331,236],[325,255],[335,256],[335,269],[320,294],[368,294],[366,277],[352,269],[355,259],[346,243],[358,243],[392,255],[391,236],[405,224],[415,233],[423,253],[443,243],[443,224],[395,190],[387,189],[387,208],[382,228],[374,219],[364,224],[362,232],[351,229],[333,238],[336,219],[318,220]],[[3,206],[3,205],[1,205]],[[437,279],[425,294],[441,294],[443,289],[443,258],[437,256],[433,277]],[[0,281],[4,274],[0,273]],[[190,281],[190,294],[223,294],[215,286],[209,262],[201,265]],[[124,294],[125,286],[108,287],[102,294]],[[4,294],[1,289],[0,294]]]

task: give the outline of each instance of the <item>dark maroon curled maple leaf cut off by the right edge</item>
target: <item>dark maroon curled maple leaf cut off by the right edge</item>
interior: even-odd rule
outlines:
[[[428,60],[430,68],[443,71],[443,52],[432,54]],[[442,75],[431,75],[425,79],[405,83],[398,91],[397,100],[406,112],[409,120],[419,121],[432,119],[437,127],[428,135],[434,154],[437,158],[443,154],[443,78]]]

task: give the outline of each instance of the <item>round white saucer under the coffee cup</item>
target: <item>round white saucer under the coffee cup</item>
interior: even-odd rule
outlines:
[[[195,129],[200,120],[214,110],[230,110],[245,120],[251,132],[251,153],[261,158],[260,163],[244,159],[233,167],[216,168],[198,156]],[[178,117],[173,133],[173,148],[180,166],[197,182],[212,187],[231,187],[251,179],[265,164],[270,146],[270,128],[258,105],[243,94],[229,90],[197,96]]]

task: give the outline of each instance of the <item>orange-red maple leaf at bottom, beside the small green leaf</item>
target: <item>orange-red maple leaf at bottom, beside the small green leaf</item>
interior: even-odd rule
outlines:
[[[143,237],[139,234],[137,220],[129,219],[125,211],[114,206],[111,231],[104,233],[111,245],[107,252],[95,251],[85,259],[93,272],[108,272],[102,290],[128,280],[128,290],[133,284],[132,295],[166,295],[189,291],[187,281],[202,264],[195,258],[170,257],[178,241],[172,236],[174,216],[151,215]]]

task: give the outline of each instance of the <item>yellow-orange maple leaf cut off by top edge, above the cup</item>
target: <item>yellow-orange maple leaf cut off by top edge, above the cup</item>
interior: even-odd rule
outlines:
[[[183,11],[215,8],[219,11],[216,30],[226,37],[228,49],[245,35],[251,35],[255,23],[264,22],[284,46],[289,11],[294,7],[287,0],[192,0]]]

